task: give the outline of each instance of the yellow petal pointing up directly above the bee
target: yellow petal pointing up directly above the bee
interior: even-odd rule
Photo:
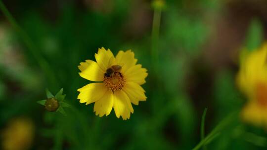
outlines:
[[[99,48],[97,54],[94,54],[95,60],[103,72],[114,65],[115,58],[110,49],[106,50],[104,47]]]

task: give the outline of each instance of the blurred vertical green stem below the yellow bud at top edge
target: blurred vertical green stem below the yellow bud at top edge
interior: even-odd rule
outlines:
[[[151,57],[152,64],[157,72],[159,65],[159,32],[160,32],[161,8],[154,8],[151,38]]]

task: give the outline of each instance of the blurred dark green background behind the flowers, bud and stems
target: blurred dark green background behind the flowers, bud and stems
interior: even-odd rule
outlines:
[[[235,82],[239,51],[259,46],[267,35],[266,0],[166,0],[155,63],[151,0],[2,2],[35,45],[29,48],[0,13],[3,150],[190,150],[201,140],[205,108],[206,134],[240,111],[246,98]],[[133,106],[127,121],[114,111],[99,118],[93,105],[77,100],[77,89],[89,83],[77,66],[94,60],[102,46],[114,54],[132,49],[148,70],[143,85],[147,101]],[[42,60],[48,62],[49,74]],[[65,102],[76,109],[66,108],[67,116],[47,112],[37,104],[46,98],[45,88],[53,94],[64,88]],[[26,138],[19,139],[25,132]],[[266,150],[266,133],[237,117],[207,149]],[[6,143],[17,147],[5,149]]]

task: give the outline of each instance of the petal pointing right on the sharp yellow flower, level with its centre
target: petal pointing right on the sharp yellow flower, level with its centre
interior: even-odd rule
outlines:
[[[124,75],[126,81],[136,82],[142,85],[145,83],[145,78],[148,75],[146,72],[147,70],[145,68],[142,68],[142,65],[138,64],[128,69]]]

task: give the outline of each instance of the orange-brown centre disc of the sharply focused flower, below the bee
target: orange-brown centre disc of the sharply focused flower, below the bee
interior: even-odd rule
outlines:
[[[104,76],[103,82],[112,91],[117,91],[122,89],[125,79],[120,72],[115,72],[113,75]]]

